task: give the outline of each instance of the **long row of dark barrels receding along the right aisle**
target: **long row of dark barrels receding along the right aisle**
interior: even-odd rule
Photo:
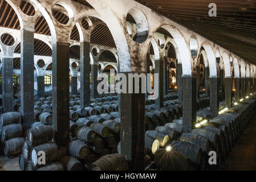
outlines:
[[[205,122],[191,133],[182,133],[170,144],[170,151],[160,148],[155,153],[155,165],[161,170],[204,170],[213,168],[208,163],[209,151],[217,154],[217,166],[224,161],[253,114],[256,97]],[[174,121],[176,122],[176,121]],[[177,123],[182,124],[182,120]]]

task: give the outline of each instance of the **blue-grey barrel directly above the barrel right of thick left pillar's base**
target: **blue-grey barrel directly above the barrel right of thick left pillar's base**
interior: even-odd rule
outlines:
[[[82,126],[76,130],[76,137],[84,142],[94,142],[95,132],[90,127]]]

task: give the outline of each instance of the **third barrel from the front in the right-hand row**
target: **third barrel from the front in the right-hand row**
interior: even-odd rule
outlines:
[[[206,152],[206,154],[208,154],[210,151],[210,140],[202,137],[201,135],[184,133],[181,135],[180,140],[196,144],[202,149],[203,152]]]

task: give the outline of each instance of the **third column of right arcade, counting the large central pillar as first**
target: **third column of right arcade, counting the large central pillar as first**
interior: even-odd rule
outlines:
[[[210,112],[213,115],[218,114],[218,110],[220,109],[218,80],[219,78],[217,76],[210,76]]]

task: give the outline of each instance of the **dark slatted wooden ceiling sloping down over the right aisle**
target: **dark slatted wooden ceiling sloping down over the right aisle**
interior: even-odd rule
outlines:
[[[256,64],[255,0],[136,0]],[[210,3],[217,17],[210,17]]]

